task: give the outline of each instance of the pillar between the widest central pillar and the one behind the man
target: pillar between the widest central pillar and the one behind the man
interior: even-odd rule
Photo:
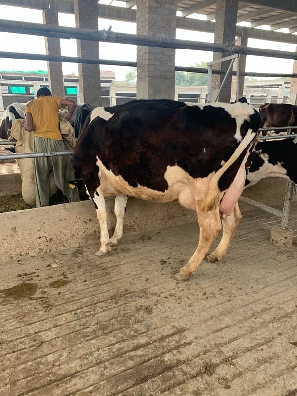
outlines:
[[[98,30],[97,0],[74,0],[75,25],[77,28]],[[99,60],[99,43],[77,40],[78,57]],[[101,106],[100,66],[79,64],[79,98],[93,107]]]

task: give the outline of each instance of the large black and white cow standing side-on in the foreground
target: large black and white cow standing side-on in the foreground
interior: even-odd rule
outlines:
[[[122,237],[127,196],[156,202],[178,200],[196,210],[200,225],[198,247],[175,276],[187,279],[222,228],[220,202],[254,145],[259,113],[242,103],[185,106],[163,99],[137,100],[97,108],[90,120],[78,140],[72,165],[96,207],[101,230],[96,254],[108,253],[110,245]],[[110,196],[116,196],[117,218],[111,238],[105,206]],[[223,218],[224,230],[237,207]]]

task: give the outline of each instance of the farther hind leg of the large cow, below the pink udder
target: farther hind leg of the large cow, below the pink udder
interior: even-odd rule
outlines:
[[[209,254],[206,259],[213,263],[225,257],[235,230],[242,219],[242,214],[239,210],[238,203],[235,205],[233,212],[230,216],[223,219],[223,236],[217,248]]]

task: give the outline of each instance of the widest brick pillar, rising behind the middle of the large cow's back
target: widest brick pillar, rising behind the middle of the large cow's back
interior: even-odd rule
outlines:
[[[137,0],[137,34],[175,39],[176,0]],[[175,49],[137,47],[137,98],[174,99]]]

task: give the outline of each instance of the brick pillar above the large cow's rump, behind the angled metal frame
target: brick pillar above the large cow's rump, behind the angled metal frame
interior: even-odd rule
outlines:
[[[236,19],[237,19],[238,0],[217,0],[215,12],[215,28],[214,28],[214,43],[233,43],[236,33]],[[223,57],[229,56],[230,53],[224,53]],[[213,60],[220,59],[221,53],[215,52]],[[227,71],[230,61],[214,65],[213,68]],[[218,89],[223,81],[224,75],[213,75],[212,80],[212,100],[214,101]],[[231,95],[231,76],[225,81],[224,87],[221,90],[219,101],[230,102]]]

